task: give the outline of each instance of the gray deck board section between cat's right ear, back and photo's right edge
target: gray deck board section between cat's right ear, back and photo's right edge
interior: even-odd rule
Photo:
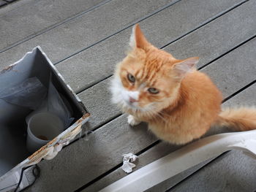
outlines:
[[[230,96],[256,79],[255,49],[256,38],[201,71],[211,77],[224,97]]]

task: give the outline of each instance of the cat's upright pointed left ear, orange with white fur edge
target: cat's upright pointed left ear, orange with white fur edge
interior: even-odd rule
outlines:
[[[143,32],[140,29],[139,24],[136,24],[132,28],[132,34],[131,37],[129,38],[129,46],[132,48],[138,47],[141,49],[145,49],[150,45],[144,36]]]

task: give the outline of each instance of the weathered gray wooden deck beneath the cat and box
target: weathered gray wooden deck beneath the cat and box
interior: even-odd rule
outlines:
[[[40,162],[41,176],[26,191],[99,191],[127,175],[123,154],[137,154],[139,169],[181,147],[159,141],[144,124],[129,127],[110,102],[113,69],[135,23],[176,58],[199,56],[198,69],[217,84],[224,105],[256,104],[255,13],[256,0],[20,0],[1,7],[0,69],[39,45],[91,112],[91,134]],[[231,151],[148,191],[255,191],[255,165]]]

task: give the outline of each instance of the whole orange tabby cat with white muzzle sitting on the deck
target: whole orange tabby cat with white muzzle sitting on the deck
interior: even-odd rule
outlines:
[[[159,139],[175,144],[197,139],[214,125],[239,131],[256,128],[253,108],[221,112],[222,93],[195,69],[199,58],[173,58],[151,45],[138,25],[129,45],[127,57],[116,67],[111,91],[113,102],[129,114],[130,125],[145,121]]]

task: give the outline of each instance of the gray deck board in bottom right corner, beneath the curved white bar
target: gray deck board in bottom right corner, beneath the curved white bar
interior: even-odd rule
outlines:
[[[217,159],[170,191],[255,191],[255,159],[241,151]]]

